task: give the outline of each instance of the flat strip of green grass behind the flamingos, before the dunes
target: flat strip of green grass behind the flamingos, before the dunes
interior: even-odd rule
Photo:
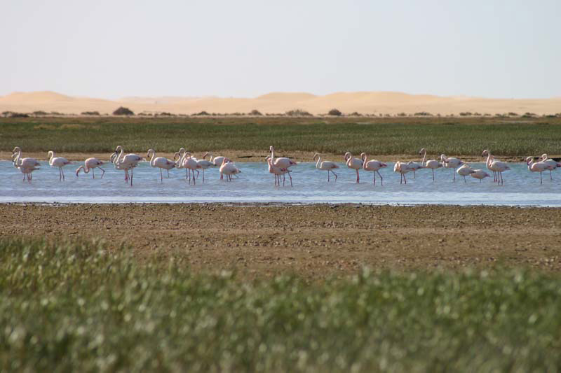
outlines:
[[[561,153],[561,118],[20,118],[0,119],[0,150],[173,152],[262,150],[283,153],[527,156]]]

